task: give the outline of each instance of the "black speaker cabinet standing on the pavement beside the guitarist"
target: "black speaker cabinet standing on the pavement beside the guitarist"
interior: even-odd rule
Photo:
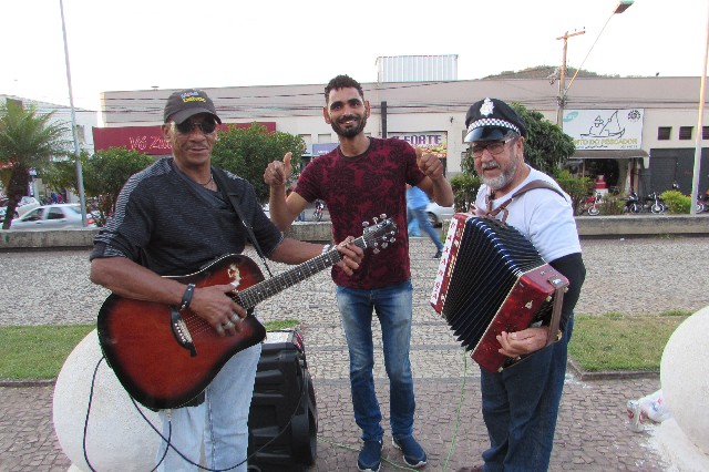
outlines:
[[[305,471],[315,463],[317,433],[318,410],[302,337],[295,330],[270,331],[248,417],[249,471]]]

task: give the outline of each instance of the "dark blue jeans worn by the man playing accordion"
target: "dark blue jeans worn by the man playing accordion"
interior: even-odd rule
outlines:
[[[561,341],[535,352],[502,373],[481,369],[483,419],[490,449],[484,470],[546,471],[566,376],[573,316]]]

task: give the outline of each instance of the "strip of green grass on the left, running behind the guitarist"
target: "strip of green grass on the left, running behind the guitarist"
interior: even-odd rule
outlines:
[[[291,329],[295,319],[266,322],[268,331]],[[53,379],[95,325],[1,326],[0,379]]]

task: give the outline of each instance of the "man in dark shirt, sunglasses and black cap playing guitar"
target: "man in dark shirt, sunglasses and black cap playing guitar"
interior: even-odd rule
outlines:
[[[189,308],[219,336],[237,336],[246,311],[227,296],[234,285],[195,288],[161,276],[198,273],[223,255],[240,254],[247,238],[269,259],[286,264],[319,256],[322,246],[284,238],[264,214],[250,183],[212,167],[217,123],[222,121],[204,91],[169,95],[162,130],[173,155],[126,182],[114,215],[94,239],[91,280],[125,298]],[[238,195],[240,215],[227,193]],[[255,242],[245,225],[251,227]],[[362,250],[346,244],[338,250],[343,256],[340,268],[351,275]],[[171,329],[167,320],[165,329]],[[160,470],[196,470],[203,443],[209,469],[247,469],[247,420],[259,357],[259,343],[242,350],[216,373],[203,398],[158,412],[171,445],[161,442]]]

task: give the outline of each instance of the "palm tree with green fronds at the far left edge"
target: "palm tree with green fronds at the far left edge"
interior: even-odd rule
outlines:
[[[27,194],[30,168],[41,170],[52,156],[66,154],[63,136],[69,130],[51,122],[52,114],[40,114],[33,105],[0,103],[0,164],[9,171],[9,178],[3,179],[8,209],[2,229],[10,229],[18,202]]]

